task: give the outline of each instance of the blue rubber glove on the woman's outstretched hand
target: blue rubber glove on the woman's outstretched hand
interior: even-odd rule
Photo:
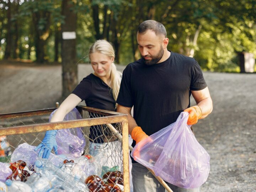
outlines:
[[[46,135],[44,136],[42,143],[39,144],[36,147],[36,149],[34,149],[35,151],[37,151],[39,148],[41,148],[38,153],[38,157],[40,157],[43,153],[42,158],[48,159],[50,156],[50,153],[52,151],[52,148],[53,148],[55,154],[56,155],[58,154],[57,142],[56,142],[56,138],[55,138],[56,134],[57,134],[57,130],[48,130],[46,132]]]

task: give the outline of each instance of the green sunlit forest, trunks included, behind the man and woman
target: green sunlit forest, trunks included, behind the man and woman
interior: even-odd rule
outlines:
[[[96,39],[112,42],[115,62],[127,65],[140,58],[139,23],[151,19],[166,27],[169,50],[203,70],[239,73],[241,53],[255,59],[255,0],[0,0],[0,60],[62,63],[65,97]]]

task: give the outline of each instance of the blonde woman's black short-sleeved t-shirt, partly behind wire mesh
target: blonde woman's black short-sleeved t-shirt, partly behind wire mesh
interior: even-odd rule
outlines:
[[[84,78],[72,93],[81,98],[82,101],[85,100],[88,107],[116,111],[116,101],[113,98],[112,89],[94,74]],[[102,127],[92,126],[90,128],[90,139],[94,143],[103,143],[100,136],[103,136]]]

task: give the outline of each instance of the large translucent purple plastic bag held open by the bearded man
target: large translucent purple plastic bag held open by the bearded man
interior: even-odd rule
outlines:
[[[182,188],[197,188],[206,182],[210,156],[198,143],[190,126],[188,113],[181,112],[175,123],[150,135],[135,156],[140,164],[153,169],[156,176]],[[134,147],[131,155],[137,145]]]

